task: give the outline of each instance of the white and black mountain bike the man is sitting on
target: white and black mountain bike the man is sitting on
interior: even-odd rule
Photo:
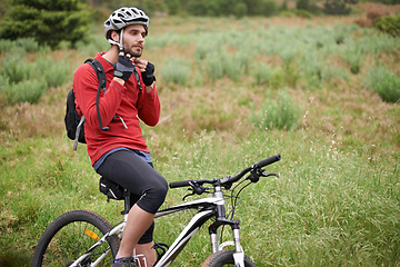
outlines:
[[[189,224],[179,234],[172,245],[156,244],[154,249],[158,259],[154,267],[167,267],[172,264],[183,247],[190,241],[194,234],[207,221],[212,220],[209,226],[211,255],[201,265],[202,267],[237,266],[254,267],[251,259],[244,255],[240,244],[239,220],[233,219],[234,210],[239,204],[239,195],[252,182],[258,182],[260,177],[276,176],[267,174],[263,167],[280,160],[280,155],[263,159],[236,176],[227,176],[216,179],[192,179],[170,182],[170,188],[188,187],[191,192],[183,197],[183,202],[167,209],[159,210],[156,218],[160,218],[178,211],[188,209],[198,210]],[[249,174],[250,172],[250,174]],[[244,179],[242,179],[249,174]],[[238,182],[240,181],[240,182]],[[248,182],[244,182],[248,181]],[[238,182],[233,188],[233,184]],[[243,185],[244,182],[244,185]],[[210,185],[212,187],[207,187]],[[238,191],[236,191],[238,189]],[[230,195],[224,195],[229,191]],[[187,197],[202,194],[212,194],[191,201]],[[232,207],[226,212],[226,200],[230,199]],[[68,211],[54,221],[42,234],[34,251],[32,267],[41,266],[110,266],[116,257],[120,238],[127,224],[127,214],[130,209],[129,194],[124,195],[124,220],[114,227],[100,215],[89,210]],[[233,240],[222,243],[224,226],[230,226]],[[222,230],[220,229],[222,227]],[[221,240],[218,238],[218,230],[221,231]],[[227,249],[227,247],[234,249]],[[136,255],[137,264],[144,263],[142,255]],[[142,259],[141,261],[139,259]]]

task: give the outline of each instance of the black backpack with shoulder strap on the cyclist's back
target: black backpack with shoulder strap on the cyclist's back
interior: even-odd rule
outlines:
[[[99,95],[100,90],[102,89],[106,92],[106,73],[104,69],[102,68],[101,63],[97,59],[87,59],[84,63],[89,63],[96,71],[96,75],[99,79],[99,88],[96,97],[96,107],[99,117],[100,128],[102,130],[108,130],[108,127],[103,127],[101,122],[101,116],[99,110]],[[73,89],[68,92],[67,96],[67,109],[66,109],[66,117],[64,123],[67,129],[67,136],[69,139],[73,140],[73,150],[77,150],[78,142],[86,144],[84,139],[84,116],[82,118],[79,116],[77,111],[77,107],[74,103],[74,93]]]

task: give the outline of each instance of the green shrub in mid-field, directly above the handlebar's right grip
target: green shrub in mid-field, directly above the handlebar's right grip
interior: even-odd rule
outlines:
[[[252,113],[250,121],[261,129],[291,130],[299,125],[301,108],[287,90],[278,92],[277,99],[268,98],[260,113]]]

